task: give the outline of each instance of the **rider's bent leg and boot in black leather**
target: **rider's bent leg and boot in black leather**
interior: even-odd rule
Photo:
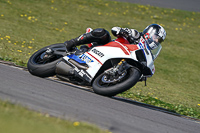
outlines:
[[[97,44],[100,45],[100,44],[106,44],[110,40],[111,37],[109,32],[105,29],[98,28],[94,29],[89,33],[85,33],[75,39],[66,41],[64,44],[66,45],[67,51],[72,51],[74,46],[78,46],[81,44],[88,44],[92,42],[97,42]]]

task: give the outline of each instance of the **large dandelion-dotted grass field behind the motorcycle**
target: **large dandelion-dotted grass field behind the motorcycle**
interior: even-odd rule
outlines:
[[[167,37],[155,62],[155,75],[148,79],[147,87],[138,83],[120,96],[156,97],[199,114],[199,22],[199,12],[107,0],[0,0],[0,59],[26,66],[36,50],[75,38],[87,27],[110,31],[121,26],[143,31],[158,23],[166,29]]]

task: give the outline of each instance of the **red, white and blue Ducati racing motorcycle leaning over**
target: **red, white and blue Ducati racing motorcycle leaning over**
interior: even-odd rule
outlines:
[[[56,75],[74,84],[92,86],[95,93],[115,96],[145,81],[155,72],[154,60],[162,48],[149,48],[141,37],[137,45],[120,37],[105,45],[85,50],[85,45],[67,52],[64,43],[53,44],[35,52],[28,71],[39,77]]]

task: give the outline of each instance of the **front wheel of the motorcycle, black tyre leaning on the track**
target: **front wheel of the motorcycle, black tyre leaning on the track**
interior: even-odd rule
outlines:
[[[97,94],[115,96],[133,87],[140,77],[140,70],[134,67],[129,68],[116,78],[104,72],[94,80],[92,87]]]

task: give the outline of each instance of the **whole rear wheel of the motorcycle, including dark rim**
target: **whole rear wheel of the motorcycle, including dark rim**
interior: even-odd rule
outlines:
[[[28,71],[39,77],[55,75],[56,64],[66,54],[63,43],[49,45],[35,52],[29,59]]]

